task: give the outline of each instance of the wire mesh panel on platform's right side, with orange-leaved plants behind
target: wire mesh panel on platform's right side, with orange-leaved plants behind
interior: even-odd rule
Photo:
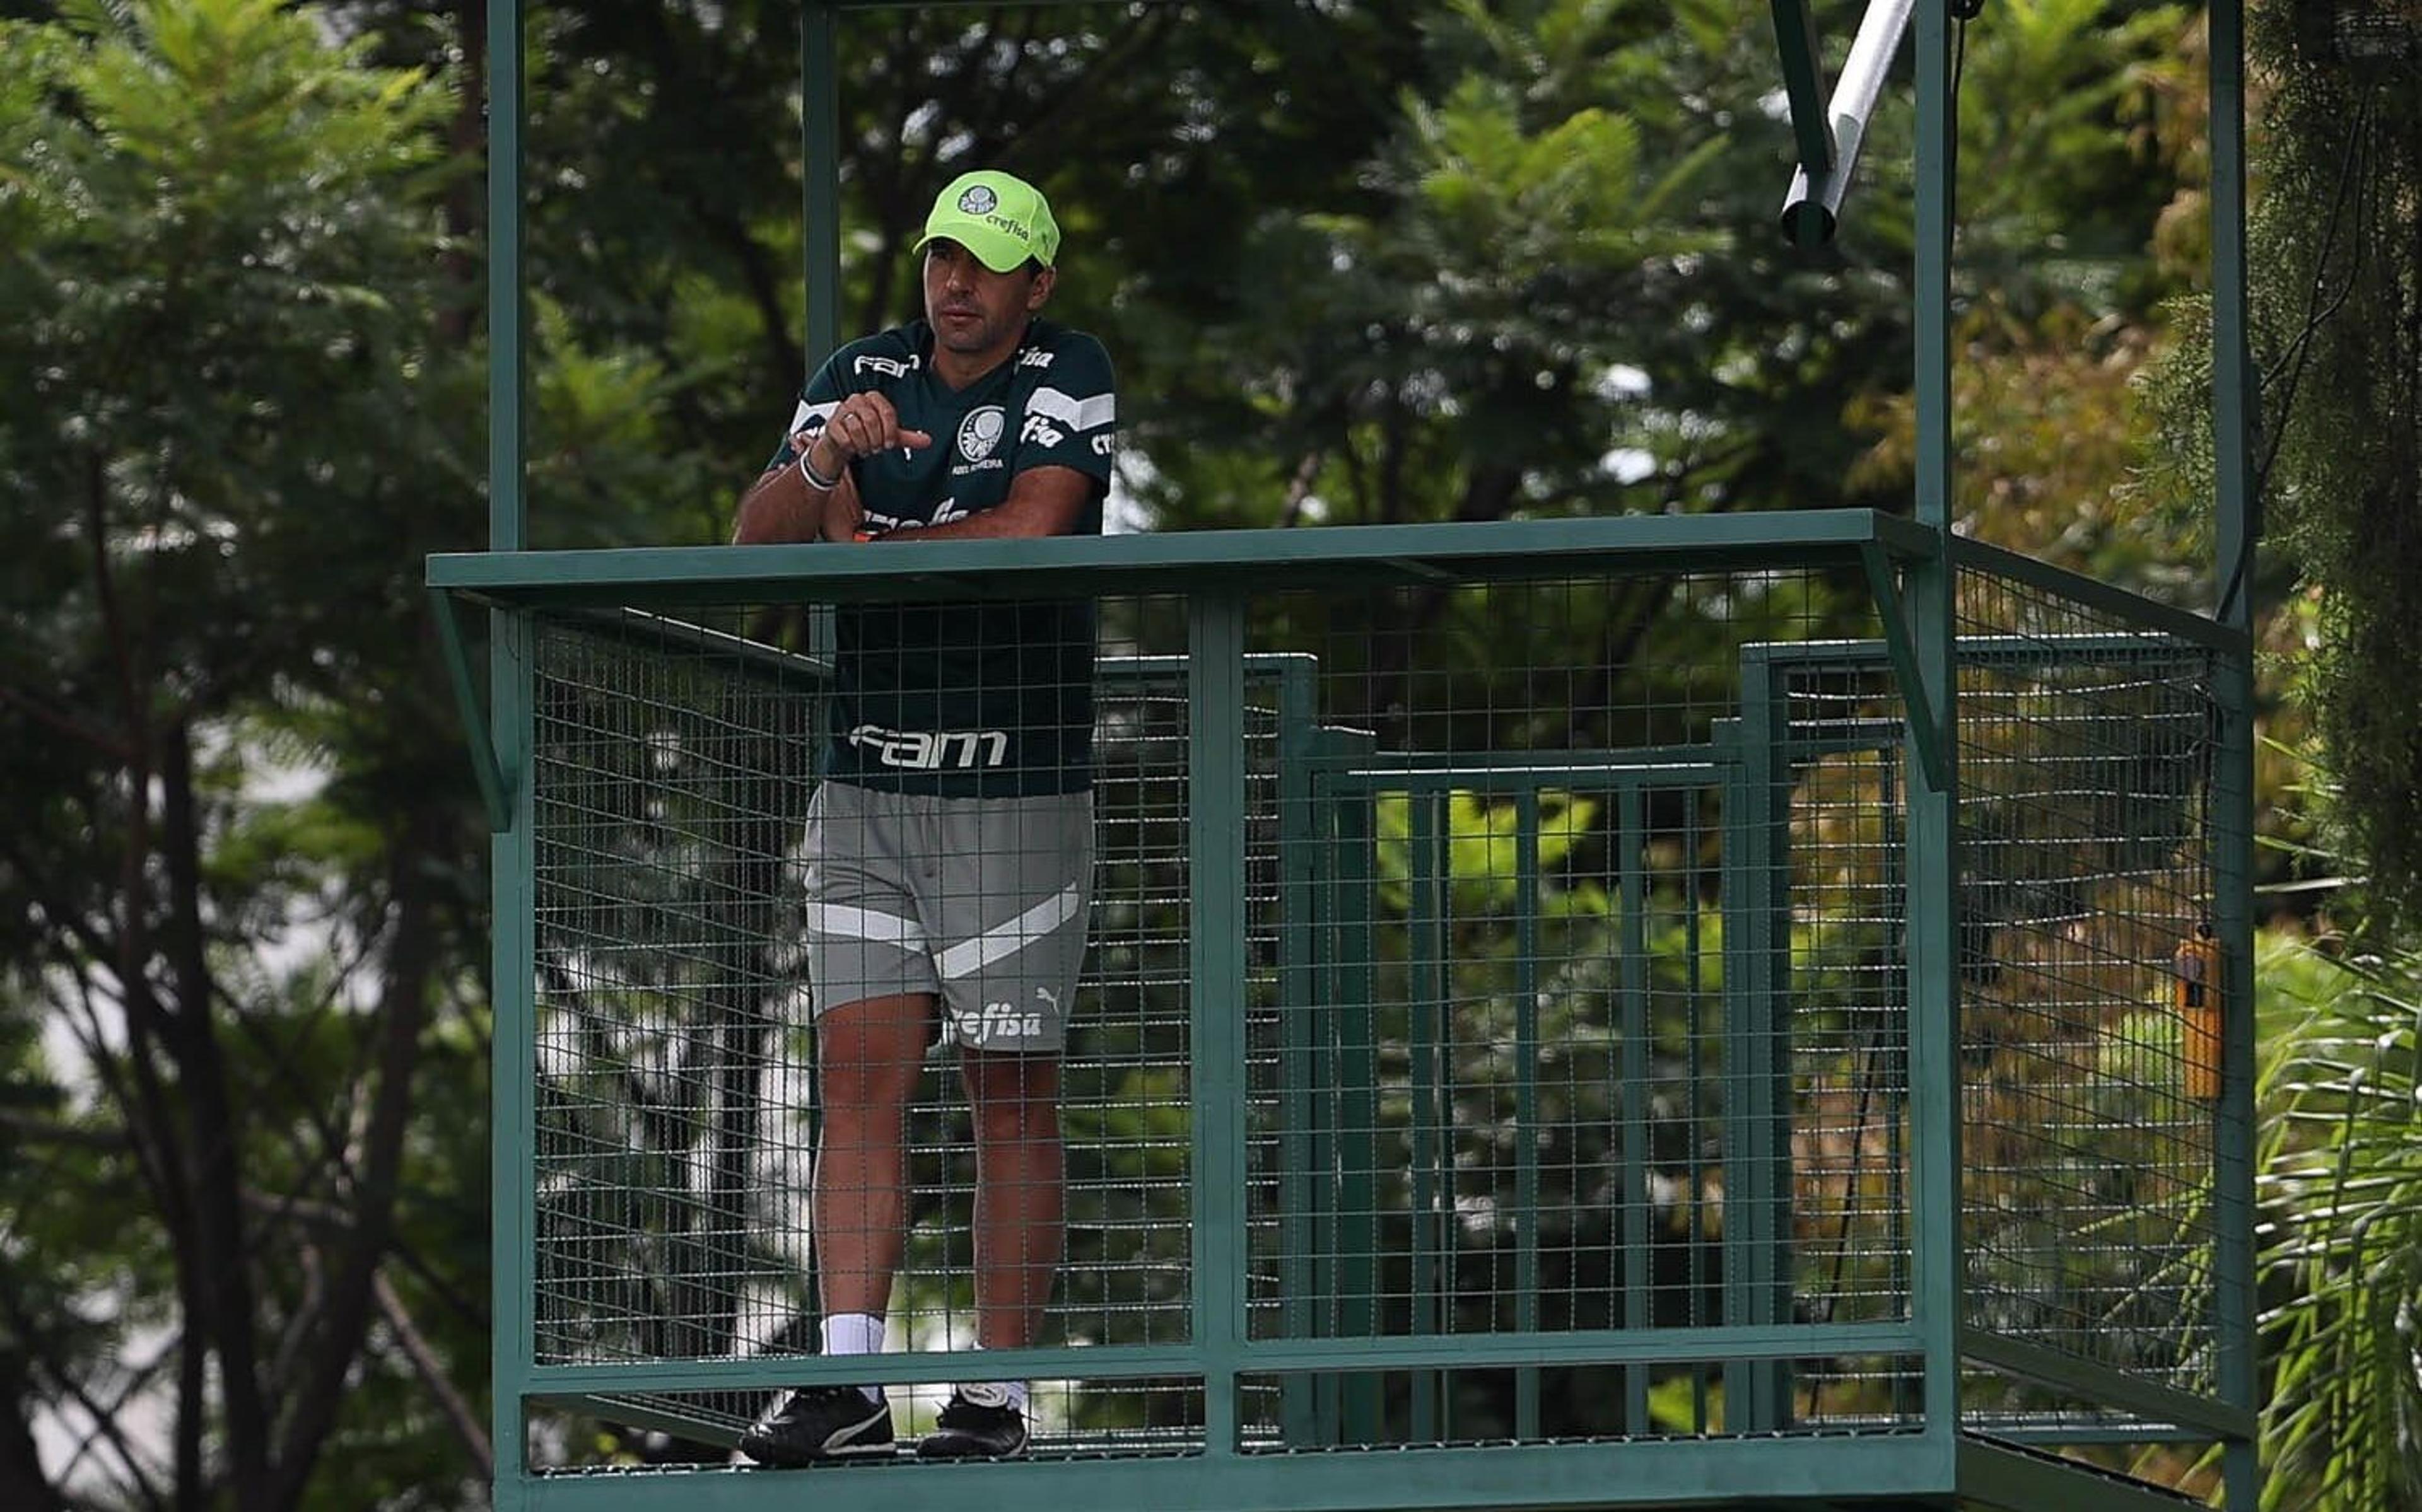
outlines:
[[[1967,1321],[2209,1393],[2211,654],[1988,572],[1959,632]]]

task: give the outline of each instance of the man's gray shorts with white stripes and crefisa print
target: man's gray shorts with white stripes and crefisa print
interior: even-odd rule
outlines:
[[[954,1044],[1063,1049],[1090,906],[1090,792],[935,797],[823,783],[809,800],[816,1013],[935,993]]]

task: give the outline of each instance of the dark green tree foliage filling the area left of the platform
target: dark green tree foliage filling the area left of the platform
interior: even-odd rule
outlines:
[[[274,0],[63,12],[0,34],[0,1357],[75,1454],[7,1500],[361,1505],[480,1432],[450,99]]]

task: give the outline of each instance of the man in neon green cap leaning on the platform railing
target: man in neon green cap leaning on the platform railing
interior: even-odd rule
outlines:
[[[739,543],[1095,536],[1109,356],[1039,317],[1058,225],[1005,172],[925,218],[925,320],[836,351],[741,499]],[[1092,894],[1090,601],[865,603],[836,613],[823,785],[807,821],[816,1001],[811,1241],[823,1352],[872,1354],[901,1262],[903,1115],[925,1047],[957,1047],[976,1132],[976,1342],[1034,1342],[1061,1258],[1058,1054]],[[1027,1384],[952,1391],[923,1456],[1027,1442]],[[891,1454],[879,1386],[787,1393],[763,1464]]]

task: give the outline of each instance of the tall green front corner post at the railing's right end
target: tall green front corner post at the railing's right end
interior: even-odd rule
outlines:
[[[1945,1464],[1959,1437],[1962,1180],[1959,1180],[1959,741],[1957,741],[1957,569],[1952,565],[1952,78],[1950,7],[1918,5],[1918,172],[1916,172],[1916,519],[1935,531],[1935,550],[1904,579],[1909,635],[1916,642],[1918,700],[1909,788],[1909,1093],[1916,1124],[1918,1241],[1913,1321],[1925,1345],[1923,1432]],[[1923,712],[1921,712],[1923,710]],[[1925,734],[1940,741],[1940,773],[1928,773]]]

